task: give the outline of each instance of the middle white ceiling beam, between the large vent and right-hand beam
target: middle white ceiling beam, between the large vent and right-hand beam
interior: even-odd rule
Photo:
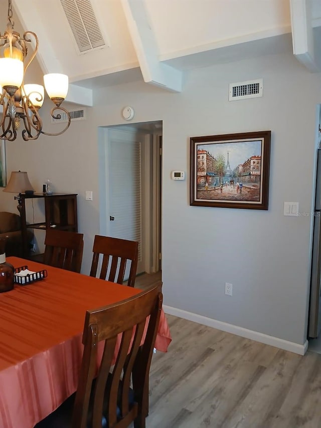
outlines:
[[[143,0],[121,0],[121,3],[144,81],[182,92],[182,72],[158,60],[157,43]]]

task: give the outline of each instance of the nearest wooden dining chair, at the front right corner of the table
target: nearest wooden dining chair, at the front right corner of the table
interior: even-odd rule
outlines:
[[[135,428],[145,427],[149,368],[163,304],[161,290],[158,281],[129,299],[86,312],[77,391],[35,428],[124,428],[132,421]],[[104,342],[103,354],[97,374],[100,342]]]

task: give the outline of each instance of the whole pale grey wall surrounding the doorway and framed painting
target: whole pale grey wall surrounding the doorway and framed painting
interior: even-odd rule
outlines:
[[[263,78],[264,96],[228,101],[230,82]],[[292,56],[270,56],[203,68],[186,76],[182,93],[143,83],[95,93],[86,121],[61,137],[7,144],[9,170],[28,171],[39,190],[50,177],[60,192],[76,192],[79,231],[85,234],[83,273],[89,273],[99,232],[98,126],[163,120],[163,281],[165,304],[303,344],[306,339],[311,217],[284,217],[283,202],[313,205],[316,106],[321,79]],[[189,138],[271,130],[269,210],[191,207]],[[173,181],[174,169],[187,180]],[[10,172],[10,171],[9,171]],[[85,190],[93,201],[84,200]],[[15,210],[0,193],[0,209]],[[224,295],[225,281],[233,297]]]

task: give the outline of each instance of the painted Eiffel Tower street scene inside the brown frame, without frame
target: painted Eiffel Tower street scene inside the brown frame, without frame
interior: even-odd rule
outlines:
[[[198,200],[260,202],[262,141],[197,146]]]

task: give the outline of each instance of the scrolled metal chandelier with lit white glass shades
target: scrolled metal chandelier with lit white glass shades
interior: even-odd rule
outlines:
[[[69,128],[71,121],[69,112],[60,105],[68,92],[68,76],[57,73],[44,76],[46,91],[55,104],[50,112],[51,116],[61,119],[57,112],[61,110],[68,118],[68,123],[61,132],[45,132],[39,115],[44,102],[44,87],[24,83],[26,70],[38,51],[38,37],[32,31],[26,31],[21,37],[14,31],[12,18],[12,0],[8,0],[7,30],[3,36],[0,33],[0,105],[3,106],[2,117],[0,113],[0,138],[14,141],[19,128],[22,128],[25,141],[37,139],[40,134],[60,135]],[[28,49],[32,43],[35,48],[27,62]]]

